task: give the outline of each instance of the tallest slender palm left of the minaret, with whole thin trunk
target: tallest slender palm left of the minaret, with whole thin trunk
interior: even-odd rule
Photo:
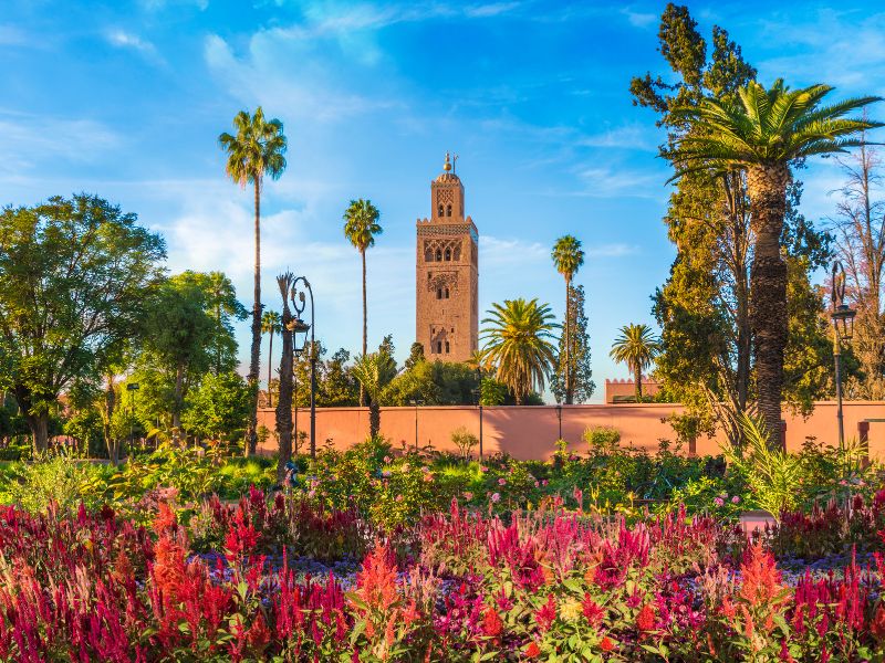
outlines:
[[[246,431],[246,453],[254,453],[258,444],[256,425],[258,423],[258,369],[261,361],[261,182],[266,176],[280,179],[285,170],[287,140],[283,125],[279,119],[264,119],[264,112],[259,106],[254,115],[240,110],[233,118],[237,135],[225,131],[218,137],[218,144],[228,155],[225,170],[230,178],[246,187],[254,187],[256,192],[256,273],[254,304],[252,306],[252,346],[249,360],[249,385],[252,388],[254,402],[249,414],[249,427]]]

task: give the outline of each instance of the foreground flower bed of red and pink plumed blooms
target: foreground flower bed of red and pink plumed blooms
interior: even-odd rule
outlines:
[[[885,646],[878,564],[791,587],[762,544],[683,511],[503,520],[452,502],[371,541],[353,512],[252,491],[192,523],[165,503],[153,532],[107,507],[6,509],[0,659],[882,661]],[[367,554],[343,578],[291,562],[320,549],[346,569],[356,541]]]

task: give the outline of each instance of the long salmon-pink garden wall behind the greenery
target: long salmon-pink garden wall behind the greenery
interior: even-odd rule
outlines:
[[[885,401],[856,401],[843,404],[845,439],[858,438],[858,423],[864,419],[885,419]],[[621,431],[622,445],[655,451],[662,439],[674,441],[676,435],[663,420],[673,412],[681,411],[673,404],[593,404],[562,407],[562,436],[572,448],[583,451],[581,442],[584,429],[595,425],[614,427]],[[815,404],[808,419],[784,413],[787,446],[799,449],[806,438],[821,443],[835,444],[837,440],[836,406],[832,401]],[[415,408],[382,408],[381,430],[395,444],[414,445]],[[434,449],[452,451],[451,431],[465,427],[479,435],[479,410],[476,407],[421,407],[417,410],[417,440],[420,446],[431,444]],[[274,411],[259,410],[259,425],[274,430]],[[310,410],[299,409],[298,429],[310,432]],[[316,410],[316,440],[323,445],[326,440],[339,449],[364,440],[368,434],[368,410],[365,408],[322,408]],[[868,445],[871,456],[885,461],[885,422],[870,424]],[[548,459],[553,453],[553,441],[559,436],[558,408],[494,407],[482,409],[482,442],[486,453],[507,452],[521,459]],[[275,450],[275,438],[269,438],[262,451]],[[716,454],[719,439],[701,436],[696,443],[696,453]],[[685,449],[684,452],[689,450]]]

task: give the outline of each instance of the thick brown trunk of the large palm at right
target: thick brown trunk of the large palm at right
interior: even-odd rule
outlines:
[[[759,412],[769,444],[780,445],[783,350],[787,347],[787,264],[780,240],[787,211],[790,169],[782,165],[748,169],[750,218],[756,234],[750,272],[750,325],[753,333]]]

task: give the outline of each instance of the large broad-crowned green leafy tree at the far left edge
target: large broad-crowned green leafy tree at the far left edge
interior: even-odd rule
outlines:
[[[96,196],[0,213],[0,368],[37,451],[59,394],[98,380],[142,324],[165,245]]]

